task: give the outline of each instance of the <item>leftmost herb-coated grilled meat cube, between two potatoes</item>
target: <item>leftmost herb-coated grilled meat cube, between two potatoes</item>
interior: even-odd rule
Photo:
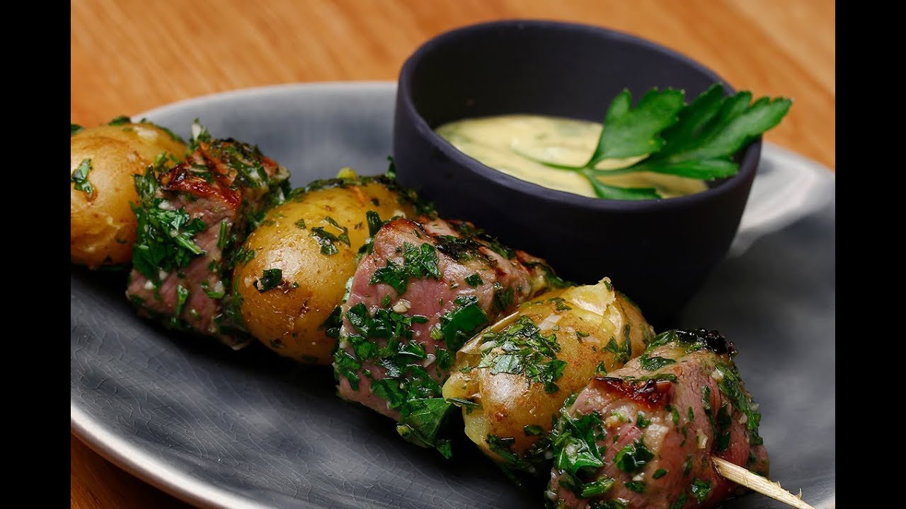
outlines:
[[[265,209],[283,200],[289,173],[257,147],[211,140],[206,131],[185,161],[159,161],[135,186],[138,240],[126,291],[139,312],[170,328],[217,337],[234,349],[250,336],[233,312],[234,258]]]

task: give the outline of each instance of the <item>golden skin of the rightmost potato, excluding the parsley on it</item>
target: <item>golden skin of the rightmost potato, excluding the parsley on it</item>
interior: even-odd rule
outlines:
[[[529,384],[523,374],[492,375],[487,368],[462,372],[463,368],[477,367],[480,362],[484,342],[481,334],[460,349],[452,375],[443,388],[444,398],[468,399],[480,405],[480,408],[463,408],[466,434],[496,461],[503,458],[489,447],[488,435],[515,438],[511,450],[524,454],[551,430],[552,417],[557,415],[564,400],[588,385],[599,364],[608,371],[622,366],[624,360],[605,348],[611,340],[619,349],[624,348],[626,325],[629,325],[632,356],[641,354],[647,341],[654,337],[651,325],[645,322],[638,308],[613,291],[607,278],[598,284],[544,293],[490,329],[503,331],[522,316],[531,318],[541,334],[555,334],[560,345],[556,358],[566,362],[563,375],[556,380],[559,389],[547,393],[544,384]],[[495,350],[490,354],[497,353]],[[542,435],[527,435],[525,426],[529,425],[539,427]]]

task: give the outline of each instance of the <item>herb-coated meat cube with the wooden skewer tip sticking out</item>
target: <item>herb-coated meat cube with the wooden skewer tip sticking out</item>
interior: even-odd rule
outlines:
[[[767,475],[761,418],[714,331],[668,331],[567,400],[547,502],[557,508],[714,507],[741,486],[718,456]]]

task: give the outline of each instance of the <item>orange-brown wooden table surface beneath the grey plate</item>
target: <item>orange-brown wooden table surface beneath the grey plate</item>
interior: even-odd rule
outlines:
[[[737,90],[793,98],[766,140],[834,170],[835,15],[833,0],[78,0],[70,115],[90,126],[218,91],[396,80],[436,34],[547,18],[641,35]],[[72,507],[186,506],[71,442]]]

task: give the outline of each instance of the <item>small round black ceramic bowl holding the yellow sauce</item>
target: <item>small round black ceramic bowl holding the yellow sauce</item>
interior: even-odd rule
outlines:
[[[739,155],[739,173],[686,197],[623,201],[582,197],[511,177],[468,157],[433,129],[451,120],[538,113],[601,121],[623,89],[686,91],[720,77],[688,57],[600,27],[501,21],[431,39],[403,65],[393,152],[398,178],[464,218],[542,256],[564,278],[613,284],[646,317],[670,326],[726,254],[752,179],[761,139]],[[732,92],[724,83],[728,92]]]

